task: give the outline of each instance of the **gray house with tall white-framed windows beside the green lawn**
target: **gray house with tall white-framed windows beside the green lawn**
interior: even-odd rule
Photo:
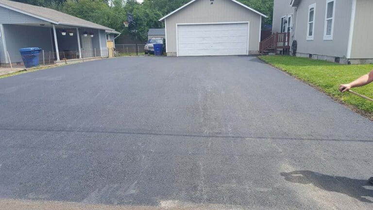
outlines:
[[[373,0],[274,0],[272,32],[289,32],[296,56],[373,63],[372,11]]]

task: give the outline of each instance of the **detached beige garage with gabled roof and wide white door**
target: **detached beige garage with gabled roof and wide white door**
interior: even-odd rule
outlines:
[[[167,56],[257,54],[262,17],[236,0],[192,0],[160,19]]]

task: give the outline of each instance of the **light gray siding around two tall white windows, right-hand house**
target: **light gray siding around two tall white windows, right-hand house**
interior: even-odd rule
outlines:
[[[316,3],[314,40],[306,40],[308,6]],[[333,40],[323,40],[325,0],[302,0],[297,10],[297,53],[346,57],[350,31],[352,0],[336,0]]]

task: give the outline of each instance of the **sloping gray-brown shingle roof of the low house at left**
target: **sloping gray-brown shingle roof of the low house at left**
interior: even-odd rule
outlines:
[[[46,7],[34,6],[31,4],[25,4],[10,0],[0,0],[0,6],[25,15],[32,16],[34,18],[39,18],[47,22],[54,23],[56,25],[67,25],[115,31],[114,29],[90,22],[85,19],[70,16],[66,13],[62,13]]]

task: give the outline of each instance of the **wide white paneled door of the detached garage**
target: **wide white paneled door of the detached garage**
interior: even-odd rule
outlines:
[[[178,56],[248,54],[248,27],[248,23],[178,25]]]

